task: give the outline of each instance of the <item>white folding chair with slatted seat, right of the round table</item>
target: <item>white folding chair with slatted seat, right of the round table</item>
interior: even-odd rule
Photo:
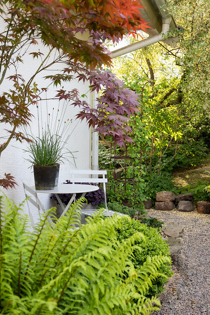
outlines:
[[[113,216],[115,214],[117,215],[124,215],[123,213],[120,212],[114,212],[111,210],[108,210],[107,208],[107,197],[106,197],[106,185],[105,183],[108,182],[107,178],[105,178],[105,175],[107,174],[107,171],[102,170],[102,171],[93,171],[93,170],[78,170],[78,169],[71,169],[69,171],[70,173],[70,181],[75,184],[75,183],[103,183],[103,192],[104,192],[104,199],[105,199],[105,208],[104,211],[101,212],[105,217],[107,216]],[[79,178],[79,177],[74,177],[74,175],[103,175],[103,178]],[[96,215],[98,212],[98,209],[92,209],[92,210],[81,210],[81,213],[84,215]]]

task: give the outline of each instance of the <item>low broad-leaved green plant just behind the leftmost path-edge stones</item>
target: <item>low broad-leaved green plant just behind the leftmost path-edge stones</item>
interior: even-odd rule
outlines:
[[[177,188],[174,187],[174,183],[172,182],[173,178],[169,173],[162,172],[161,175],[156,173],[146,173],[146,177],[144,178],[144,191],[147,196],[149,196],[152,200],[152,203],[155,203],[156,192],[162,191],[172,191],[177,192]]]

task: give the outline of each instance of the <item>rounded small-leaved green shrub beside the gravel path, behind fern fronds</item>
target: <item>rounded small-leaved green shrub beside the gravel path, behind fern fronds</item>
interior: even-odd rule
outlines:
[[[121,221],[120,228],[117,228],[117,238],[123,242],[136,232],[141,232],[144,238],[135,241],[137,247],[133,247],[130,260],[135,267],[136,272],[142,269],[147,259],[159,257],[169,257],[168,244],[161,238],[159,232],[155,228],[149,228],[146,224],[140,223],[138,220],[128,220],[124,217]],[[167,282],[168,277],[172,275],[171,260],[161,262],[159,265],[159,276],[152,280],[152,285],[147,289],[145,295],[149,298],[160,294],[163,291],[163,286]],[[146,271],[146,270],[145,270]],[[147,273],[149,276],[149,274]]]

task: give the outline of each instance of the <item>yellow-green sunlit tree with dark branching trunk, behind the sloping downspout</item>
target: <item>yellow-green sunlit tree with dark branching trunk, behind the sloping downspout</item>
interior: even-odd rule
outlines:
[[[185,10],[184,5],[186,3],[182,4],[182,10]],[[178,13],[177,10],[177,15]],[[181,19],[181,16],[179,18]],[[188,62],[183,62],[186,56],[182,51],[183,36],[187,36],[184,33],[183,29],[174,33],[180,37],[175,48],[160,42],[116,58],[113,62],[112,71],[126,81],[128,87],[143,96],[142,119],[147,126],[150,139],[150,150],[147,151],[145,160],[149,173],[153,164],[152,159],[156,160],[159,156],[153,170],[158,171],[160,175],[163,153],[166,153],[170,146],[174,148],[173,156],[165,160],[165,163],[169,163],[178,154],[185,139],[189,140],[192,137],[198,140],[199,135],[196,135],[196,131],[204,131],[208,121],[200,96],[193,94],[191,89],[191,84],[194,84],[192,78],[188,84],[189,79],[186,76],[189,72],[186,70]],[[147,37],[142,32],[141,36]],[[127,38],[128,43],[136,40]],[[148,146],[147,141],[145,145]]]

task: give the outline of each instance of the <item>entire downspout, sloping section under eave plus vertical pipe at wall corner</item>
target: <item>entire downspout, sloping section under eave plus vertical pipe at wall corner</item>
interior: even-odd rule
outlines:
[[[124,54],[128,54],[131,51],[149,46],[151,44],[155,44],[160,42],[161,40],[163,40],[163,35],[169,31],[169,24],[171,22],[171,17],[167,18],[167,19],[163,19],[163,24],[162,24],[162,30],[161,33],[146,39],[143,39],[137,43],[128,45],[126,47],[120,48],[120,49],[116,49],[112,52],[111,54],[111,58],[116,58],[119,56],[122,56]],[[92,93],[92,107],[96,108],[96,97],[98,97],[97,93],[95,91],[93,91]],[[92,170],[98,170],[98,132],[92,132]]]

